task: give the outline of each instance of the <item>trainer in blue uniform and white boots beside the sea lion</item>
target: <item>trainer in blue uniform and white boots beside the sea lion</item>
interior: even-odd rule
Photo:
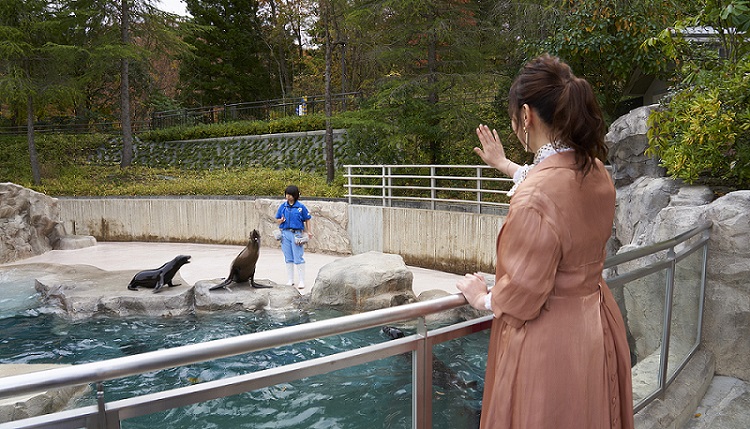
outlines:
[[[312,237],[310,212],[299,200],[299,188],[289,185],[284,190],[286,201],[276,211],[276,220],[281,229],[281,251],[286,262],[287,286],[294,284],[294,267],[299,275],[298,289],[305,288],[305,248],[306,238]],[[307,234],[307,237],[304,235]]]

